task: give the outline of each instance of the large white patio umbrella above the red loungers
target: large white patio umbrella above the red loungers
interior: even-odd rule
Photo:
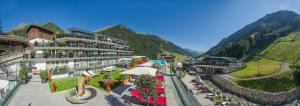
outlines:
[[[155,76],[157,69],[150,68],[150,67],[135,67],[129,69],[127,71],[122,72],[121,74],[131,74],[131,75],[142,75],[142,74],[149,74],[151,76]]]

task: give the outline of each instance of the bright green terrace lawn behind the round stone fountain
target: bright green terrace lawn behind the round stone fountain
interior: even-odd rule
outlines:
[[[111,73],[106,73],[106,74],[110,74],[111,78],[114,81],[113,84],[112,84],[112,89],[114,89],[114,88],[116,88],[120,85],[119,80],[121,80],[121,72],[122,72],[122,70],[117,69],[117,70],[112,71]],[[104,76],[106,74],[96,75],[90,81],[90,84],[92,86],[96,87],[96,88],[105,89],[105,86],[104,86],[102,80],[104,79]],[[59,92],[59,91],[64,91],[64,90],[67,90],[67,89],[74,88],[75,86],[77,86],[77,80],[78,80],[78,77],[71,77],[71,78],[63,78],[63,79],[58,79],[58,80],[52,80],[51,82],[56,84],[56,87],[57,87],[56,92]],[[50,82],[49,82],[49,85],[50,85]]]

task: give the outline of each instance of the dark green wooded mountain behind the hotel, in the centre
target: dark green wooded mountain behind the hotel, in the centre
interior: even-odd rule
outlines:
[[[115,25],[102,30],[97,30],[96,32],[128,41],[136,55],[145,55],[154,59],[156,58],[157,53],[165,50],[174,54],[176,53],[177,55],[190,56],[189,52],[172,42],[153,34],[137,33],[124,25]]]

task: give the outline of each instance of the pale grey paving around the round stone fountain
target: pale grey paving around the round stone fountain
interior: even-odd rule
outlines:
[[[21,85],[16,94],[13,95],[8,106],[73,106],[65,99],[66,91],[51,93],[47,84],[30,82]],[[97,89],[97,96],[86,104],[76,106],[119,106],[122,105],[110,93]]]

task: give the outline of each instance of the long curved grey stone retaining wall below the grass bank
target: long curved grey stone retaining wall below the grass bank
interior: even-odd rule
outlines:
[[[238,96],[245,97],[250,101],[259,104],[285,104],[292,102],[300,95],[300,87],[286,92],[270,93],[238,86],[234,82],[229,81],[228,79],[225,79],[220,75],[212,76],[212,80],[221,88],[224,88],[225,90],[237,94]]]

